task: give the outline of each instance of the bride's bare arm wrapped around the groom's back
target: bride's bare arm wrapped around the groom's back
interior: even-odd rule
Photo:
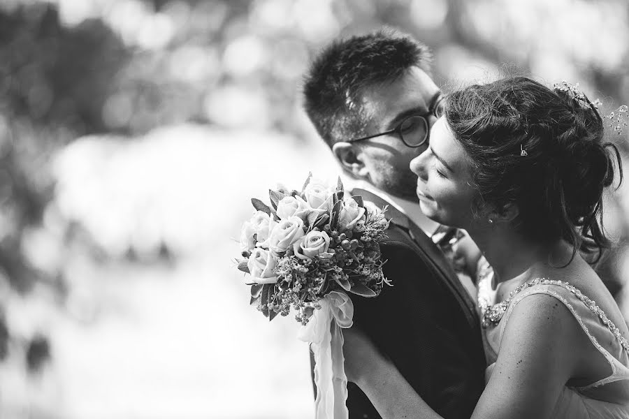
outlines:
[[[346,371],[382,418],[441,418],[359,332],[344,332]],[[514,308],[473,419],[549,418],[587,344],[572,314],[549,295]]]

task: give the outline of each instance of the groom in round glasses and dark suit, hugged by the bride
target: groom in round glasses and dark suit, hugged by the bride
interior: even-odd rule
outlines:
[[[393,287],[374,299],[352,295],[354,327],[373,339],[407,381],[446,419],[469,418],[484,387],[475,304],[426,233],[410,161],[428,147],[440,91],[431,54],[393,30],[328,45],[305,78],[305,110],[331,148],[350,195],[388,205],[384,274]],[[350,190],[351,189],[351,190]],[[349,383],[349,417],[379,418]]]

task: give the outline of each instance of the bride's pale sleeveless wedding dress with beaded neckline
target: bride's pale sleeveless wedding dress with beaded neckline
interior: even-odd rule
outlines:
[[[487,356],[486,380],[489,380],[509,314],[524,297],[546,294],[561,301],[577,319],[590,341],[609,365],[612,374],[585,387],[565,387],[551,418],[629,419],[629,344],[605,313],[586,295],[561,281],[536,279],[516,288],[509,302],[496,304],[491,289],[493,272],[486,263],[479,274],[478,299],[484,325],[483,342]]]

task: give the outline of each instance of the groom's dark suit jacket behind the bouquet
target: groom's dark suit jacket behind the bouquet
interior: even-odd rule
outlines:
[[[384,275],[393,284],[375,298],[351,295],[354,327],[373,339],[437,413],[470,418],[486,367],[475,303],[440,249],[407,216],[368,191],[350,194],[389,205],[391,225],[381,250]],[[347,389],[349,418],[380,418],[358,386],[348,383]]]

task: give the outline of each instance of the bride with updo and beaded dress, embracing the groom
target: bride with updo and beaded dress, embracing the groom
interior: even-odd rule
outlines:
[[[622,179],[598,110],[570,84],[521,77],[446,101],[411,169],[424,214],[467,230],[493,267],[479,283],[489,367],[472,418],[629,418],[629,330],[581,256],[609,244],[614,160]],[[383,418],[440,418],[361,332],[343,334],[347,376]]]

